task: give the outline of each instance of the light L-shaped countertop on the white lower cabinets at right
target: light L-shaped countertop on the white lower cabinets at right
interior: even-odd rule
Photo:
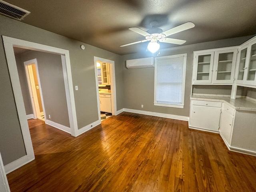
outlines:
[[[191,100],[215,101],[224,102],[235,110],[255,111],[256,100],[250,98],[230,99],[230,96],[214,96],[214,95],[192,95]]]

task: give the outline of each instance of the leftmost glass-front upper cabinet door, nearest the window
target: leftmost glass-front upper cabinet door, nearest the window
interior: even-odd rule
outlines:
[[[214,52],[194,53],[193,83],[211,83]]]

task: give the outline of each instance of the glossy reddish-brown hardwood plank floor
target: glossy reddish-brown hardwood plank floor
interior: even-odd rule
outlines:
[[[188,122],[123,112],[74,138],[29,120],[36,159],[12,192],[255,192],[256,157]]]

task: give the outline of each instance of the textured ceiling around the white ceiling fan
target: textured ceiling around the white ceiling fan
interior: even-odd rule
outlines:
[[[116,54],[146,50],[148,42],[129,27],[150,28],[158,21],[163,31],[185,22],[195,27],[169,38],[184,45],[256,34],[256,0],[5,0],[31,12],[21,22]],[[160,43],[161,48],[177,45]]]

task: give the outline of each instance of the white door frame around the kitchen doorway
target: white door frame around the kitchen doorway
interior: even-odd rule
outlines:
[[[95,69],[96,93],[97,93],[97,103],[98,103],[98,116],[99,116],[99,120],[100,120],[100,95],[99,95],[99,89],[98,89],[97,61],[105,62],[105,63],[110,64],[112,115],[116,115],[116,113],[117,113],[117,111],[116,111],[116,75],[115,75],[115,62],[114,61],[94,56],[94,69]]]

